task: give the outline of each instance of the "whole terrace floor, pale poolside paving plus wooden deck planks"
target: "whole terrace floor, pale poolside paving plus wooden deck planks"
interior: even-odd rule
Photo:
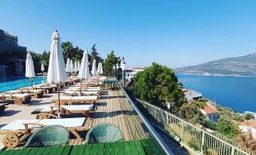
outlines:
[[[71,87],[76,86],[78,84],[72,85]],[[61,90],[61,93],[69,88],[66,87],[66,89]],[[42,105],[53,104],[51,100],[56,98],[57,93],[51,93],[45,94],[42,99],[32,99],[27,105],[9,104],[5,112],[0,114],[0,127],[16,119],[35,119],[36,115],[30,113]],[[94,118],[92,126],[96,126],[99,123],[114,123],[122,130],[125,141],[148,138],[146,126],[136,114],[134,108],[132,108],[128,99],[122,93],[122,90],[103,90],[100,101],[96,105],[97,111],[91,114],[91,117]],[[80,132],[80,135],[82,135],[82,138],[85,138],[86,132]],[[3,137],[4,135],[0,135],[0,148],[3,147]],[[69,145],[78,144],[83,144],[83,142],[77,141],[71,136]],[[20,145],[20,147],[22,146],[23,144]]]

